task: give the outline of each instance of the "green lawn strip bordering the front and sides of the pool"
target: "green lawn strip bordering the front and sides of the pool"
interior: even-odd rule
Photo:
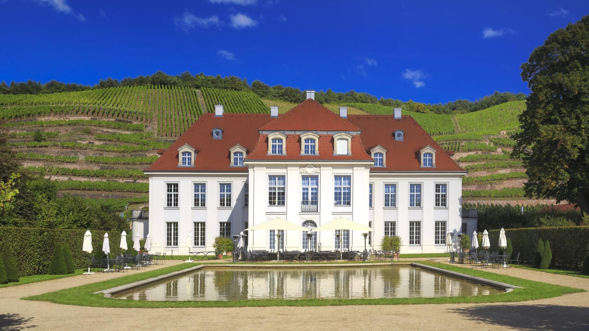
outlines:
[[[505,276],[495,273],[484,272],[482,270],[465,269],[448,264],[435,262],[419,262],[431,266],[448,269],[455,272],[471,274],[472,276],[484,277],[498,282],[513,284],[524,287],[523,289],[514,289],[509,293],[494,294],[489,296],[459,296],[459,297],[436,297],[436,298],[402,298],[402,299],[312,299],[312,300],[236,300],[236,301],[137,301],[137,300],[120,300],[104,297],[104,294],[92,294],[100,290],[110,289],[111,287],[121,286],[124,284],[137,282],[150,277],[160,276],[193,267],[197,264],[183,263],[177,266],[166,267],[163,269],[152,270],[139,274],[133,274],[117,279],[106,280],[104,282],[87,284],[84,286],[72,287],[70,289],[59,290],[56,292],[39,294],[37,296],[25,297],[25,300],[42,300],[60,304],[74,304],[78,306],[90,307],[121,307],[121,308],[160,308],[160,307],[267,307],[267,306],[346,306],[358,304],[426,304],[426,303],[485,303],[485,302],[519,302],[526,300],[546,299],[550,297],[561,296],[565,293],[584,292],[581,289],[573,287],[559,286],[547,283],[534,282],[532,280],[519,279],[511,276]]]

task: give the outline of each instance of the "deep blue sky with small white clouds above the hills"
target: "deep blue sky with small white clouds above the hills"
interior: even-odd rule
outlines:
[[[446,102],[528,92],[519,65],[589,1],[0,0],[0,81],[162,70]],[[485,38],[486,37],[486,38]]]

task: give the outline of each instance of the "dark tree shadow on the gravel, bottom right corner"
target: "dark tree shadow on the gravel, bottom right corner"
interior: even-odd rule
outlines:
[[[495,304],[453,308],[450,312],[481,323],[518,330],[588,330],[589,307],[554,304]]]

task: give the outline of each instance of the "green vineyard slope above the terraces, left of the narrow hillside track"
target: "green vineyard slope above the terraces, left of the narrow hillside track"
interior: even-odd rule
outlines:
[[[157,135],[170,138],[180,136],[203,114],[197,90],[160,85],[37,95],[3,94],[0,95],[0,107],[0,117],[9,121],[40,116],[112,118],[157,124]]]

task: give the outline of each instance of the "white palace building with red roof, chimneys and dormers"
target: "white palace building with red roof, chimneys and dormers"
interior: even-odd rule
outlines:
[[[475,230],[461,219],[466,171],[412,117],[337,115],[314,96],[280,115],[203,114],[145,170],[151,250],[211,251],[216,236],[276,217],[309,229],[344,217],[373,229],[369,248],[400,236],[401,253],[443,253],[446,233]],[[314,233],[277,243],[276,230],[246,231],[247,250],[339,249],[339,231]],[[343,230],[342,245],[362,251],[365,240]]]

